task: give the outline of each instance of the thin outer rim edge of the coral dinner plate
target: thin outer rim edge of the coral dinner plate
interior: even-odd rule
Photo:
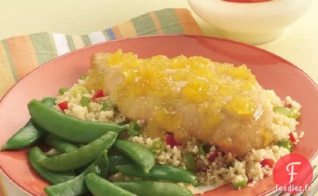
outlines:
[[[30,71],[28,74],[23,76],[21,79],[19,79],[14,85],[12,85],[7,90],[7,92],[3,95],[3,97],[0,99],[0,106],[4,103],[4,101],[6,100],[6,96],[8,96],[8,93],[15,87],[15,85],[19,84],[24,78],[30,77],[31,73],[39,71],[41,68],[45,67],[46,65],[48,65],[48,64],[50,64],[50,63],[52,63],[52,62],[54,62],[56,60],[59,60],[60,58],[67,57],[68,55],[72,55],[73,53],[76,53],[76,52],[79,52],[79,51],[82,51],[82,50],[86,50],[88,48],[92,48],[92,47],[95,47],[95,46],[107,44],[108,42],[121,42],[121,41],[125,41],[125,40],[128,40],[128,39],[143,39],[143,38],[149,38],[149,37],[150,38],[151,37],[189,37],[189,38],[197,38],[197,39],[214,39],[214,40],[229,42],[229,43],[238,44],[238,45],[241,45],[241,46],[244,46],[244,47],[248,47],[248,48],[251,48],[251,49],[255,49],[255,50],[263,52],[263,53],[265,53],[267,55],[270,55],[270,56],[276,58],[277,60],[284,62],[288,66],[291,66],[291,67],[297,69],[298,71],[300,71],[305,77],[307,77],[307,79],[309,79],[310,83],[312,83],[315,86],[316,91],[318,91],[317,83],[308,74],[306,74],[302,69],[300,69],[296,65],[292,64],[288,60],[286,60],[286,59],[284,59],[284,58],[282,58],[282,57],[280,57],[280,56],[278,56],[278,55],[276,55],[276,54],[274,54],[272,52],[269,52],[269,51],[267,51],[265,49],[262,49],[262,48],[259,48],[259,47],[253,46],[253,45],[249,45],[249,44],[246,44],[246,43],[243,43],[243,42],[239,42],[239,41],[234,41],[234,40],[225,39],[225,38],[219,38],[219,37],[206,36],[206,35],[162,34],[162,35],[144,35],[144,36],[136,36],[136,37],[126,37],[126,38],[120,38],[120,39],[115,39],[115,40],[110,40],[110,41],[104,41],[104,42],[92,44],[92,45],[89,45],[89,46],[85,46],[85,47],[82,47],[82,48],[79,48],[79,49],[75,49],[75,50],[73,50],[71,52],[68,52],[68,53],[60,55],[60,56],[58,56],[56,58],[53,58],[53,59],[47,61],[46,63],[42,64],[41,66],[36,67],[32,71]],[[312,163],[316,158],[318,158],[317,157],[318,149],[315,150],[314,154],[315,155],[313,157],[308,159],[308,161],[310,163]],[[0,172],[2,172],[3,176],[5,176],[11,183],[13,183],[14,186],[18,187],[18,189],[24,191],[27,194],[32,194],[27,188],[25,188],[23,186],[20,186],[18,181],[16,181],[15,179],[13,179],[12,177],[9,176],[9,173],[6,170],[4,170],[4,167],[1,164],[1,162],[0,162]],[[225,185],[223,185],[223,186],[225,186]],[[221,186],[221,187],[223,187],[223,186]],[[216,189],[220,189],[221,187],[218,187]],[[271,193],[273,191],[274,191],[274,186],[270,187],[267,190],[264,190],[258,196],[265,196],[266,194],[269,194],[269,193]]]

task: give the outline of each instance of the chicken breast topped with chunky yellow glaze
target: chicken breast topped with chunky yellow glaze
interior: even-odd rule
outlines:
[[[233,157],[272,141],[272,105],[245,66],[201,56],[95,53],[87,87],[103,89],[130,120],[143,119],[149,137],[196,137]]]

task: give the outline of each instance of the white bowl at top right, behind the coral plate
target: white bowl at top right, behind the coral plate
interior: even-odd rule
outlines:
[[[229,39],[262,44],[279,38],[299,19],[313,0],[272,0],[237,3],[223,0],[188,0],[193,11]]]

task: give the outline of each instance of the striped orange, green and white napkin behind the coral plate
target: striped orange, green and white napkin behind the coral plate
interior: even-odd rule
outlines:
[[[202,34],[202,30],[187,9],[168,8],[86,35],[41,32],[4,39],[0,41],[0,99],[15,82],[57,56],[103,41],[155,34]],[[27,194],[0,174],[0,196]]]

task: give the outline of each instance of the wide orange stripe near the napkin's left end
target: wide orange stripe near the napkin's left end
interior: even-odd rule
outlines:
[[[18,79],[38,66],[36,54],[28,35],[6,39]]]

